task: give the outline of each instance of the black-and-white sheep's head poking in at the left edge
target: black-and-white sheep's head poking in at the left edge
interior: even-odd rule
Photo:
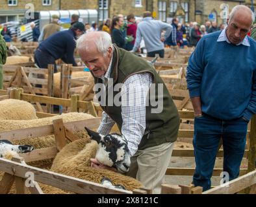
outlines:
[[[13,145],[8,140],[0,140],[0,157],[6,157],[8,153],[28,153],[33,149],[30,145]]]

